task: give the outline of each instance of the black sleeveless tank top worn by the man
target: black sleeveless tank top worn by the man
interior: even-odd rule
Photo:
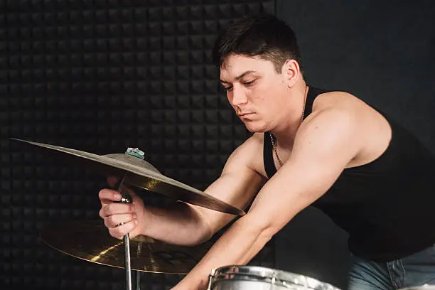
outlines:
[[[323,92],[308,90],[306,116]],[[375,161],[346,168],[312,205],[348,232],[350,252],[387,262],[435,243],[435,158],[409,131],[380,113],[392,128],[386,151]],[[270,178],[276,168],[268,132],[263,154]]]

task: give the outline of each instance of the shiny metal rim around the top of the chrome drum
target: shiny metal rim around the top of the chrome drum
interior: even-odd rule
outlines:
[[[310,276],[262,266],[227,265],[219,267],[213,272],[213,276],[215,276],[215,278],[218,280],[221,280],[221,278],[218,276],[223,276],[225,274],[239,274],[245,276],[258,276],[262,279],[276,279],[279,284],[285,284],[288,282],[294,285],[308,287],[309,289],[340,290],[332,284],[311,278]]]

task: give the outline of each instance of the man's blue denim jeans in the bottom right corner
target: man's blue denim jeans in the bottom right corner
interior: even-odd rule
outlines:
[[[351,257],[349,290],[395,290],[424,284],[435,284],[435,245],[392,262]]]

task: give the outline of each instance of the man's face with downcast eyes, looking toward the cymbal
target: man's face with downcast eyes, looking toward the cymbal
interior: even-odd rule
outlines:
[[[272,129],[280,113],[285,112],[289,94],[285,76],[276,73],[268,60],[229,55],[220,68],[220,81],[228,101],[249,131]]]

